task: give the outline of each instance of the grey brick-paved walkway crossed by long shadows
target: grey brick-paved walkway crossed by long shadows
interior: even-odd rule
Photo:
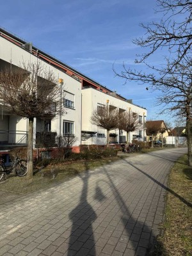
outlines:
[[[0,255],[148,255],[163,218],[168,172],[185,152],[132,155],[3,202]]]

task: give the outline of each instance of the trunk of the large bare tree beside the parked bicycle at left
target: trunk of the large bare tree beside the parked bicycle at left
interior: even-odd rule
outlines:
[[[29,179],[33,177],[33,118],[29,118],[27,177]]]

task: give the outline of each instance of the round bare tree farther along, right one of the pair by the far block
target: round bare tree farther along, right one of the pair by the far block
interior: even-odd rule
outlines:
[[[127,132],[127,144],[130,142],[129,133],[140,128],[140,126],[141,124],[138,119],[138,114],[133,113],[132,111],[120,113],[119,129]]]

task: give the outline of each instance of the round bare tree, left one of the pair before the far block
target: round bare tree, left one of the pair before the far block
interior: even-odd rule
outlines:
[[[118,108],[110,106],[108,104],[106,106],[97,108],[93,110],[91,116],[91,123],[98,125],[107,130],[107,146],[109,146],[109,131],[118,128],[118,116],[119,111]]]

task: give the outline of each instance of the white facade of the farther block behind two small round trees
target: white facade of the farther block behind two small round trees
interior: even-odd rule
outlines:
[[[131,104],[125,100],[118,99],[118,97],[113,95],[100,92],[94,88],[84,88],[82,90],[82,144],[106,145],[106,130],[97,125],[93,125],[90,122],[92,112],[97,109],[97,106],[99,105],[106,106],[106,100],[109,100],[109,106],[116,107],[120,109],[120,111],[131,111],[132,113],[136,113],[138,116],[140,116],[140,129],[130,132],[129,141],[131,142],[134,139],[143,141],[143,135],[144,137],[146,136],[143,119],[145,120],[145,117],[147,116],[147,109]],[[115,131],[110,131],[110,133],[116,134],[116,143],[121,142],[120,136],[122,136],[121,138],[123,138],[124,141],[127,140],[127,133],[125,131],[119,131],[116,129]]]

